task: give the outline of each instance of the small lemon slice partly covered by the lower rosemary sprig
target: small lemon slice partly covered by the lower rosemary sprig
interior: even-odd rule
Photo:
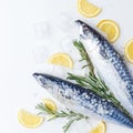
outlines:
[[[52,100],[50,100],[50,99],[43,99],[42,101],[43,101],[44,105],[48,109],[50,109],[51,111],[57,111],[58,108],[57,108],[55,103]]]

